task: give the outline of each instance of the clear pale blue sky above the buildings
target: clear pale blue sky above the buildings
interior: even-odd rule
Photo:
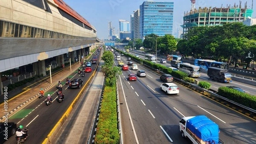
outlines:
[[[147,0],[64,0],[67,5],[78,12],[82,17],[89,21],[96,28],[99,39],[108,38],[108,22],[119,29],[119,19],[130,21],[130,16],[140,8],[140,5]],[[151,0],[152,1],[152,0]],[[174,2],[174,23],[173,34],[177,29],[182,29],[184,12],[190,11],[190,0],[154,0]],[[251,9],[253,0],[241,0],[241,6],[247,2],[247,8]],[[255,0],[256,1],[256,0]],[[256,13],[256,6],[253,6],[253,18]],[[196,0],[195,8],[199,7],[223,7],[239,5],[239,0]]]

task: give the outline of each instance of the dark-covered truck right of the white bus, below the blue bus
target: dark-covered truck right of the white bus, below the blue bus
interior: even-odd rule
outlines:
[[[211,80],[221,81],[222,83],[229,83],[232,81],[232,75],[228,72],[227,69],[208,67],[207,75]]]

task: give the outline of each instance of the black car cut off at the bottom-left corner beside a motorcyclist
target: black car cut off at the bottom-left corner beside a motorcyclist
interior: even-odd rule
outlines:
[[[8,133],[4,132],[8,127]],[[0,123],[0,144],[3,144],[6,139],[9,139],[12,135],[15,135],[17,130],[17,124],[14,122]]]

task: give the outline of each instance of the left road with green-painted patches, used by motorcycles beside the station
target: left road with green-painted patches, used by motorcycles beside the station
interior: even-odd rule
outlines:
[[[95,69],[96,64],[92,64],[92,70]],[[71,80],[73,80],[74,78],[81,78],[83,80],[83,84],[85,84],[91,75],[92,72],[87,72],[84,77],[81,77],[79,76],[77,71],[75,71],[69,77],[72,77]],[[62,84],[64,84],[65,82],[66,80],[62,81]],[[23,127],[29,127],[29,137],[25,142],[26,144],[42,143],[81,89],[70,89],[67,85],[64,84],[63,93],[65,94],[65,96],[64,100],[61,103],[59,103],[55,99],[58,97],[56,90],[56,87],[53,86],[44,93],[44,98],[35,98],[28,105],[18,110],[15,114],[9,117],[9,121],[17,123],[17,126],[22,124]],[[53,99],[52,104],[50,104],[49,106],[47,106],[45,103],[46,95],[48,94],[51,94]],[[86,97],[86,95],[84,95],[84,97]],[[15,140],[15,136],[9,138],[9,140],[5,143],[17,143]]]

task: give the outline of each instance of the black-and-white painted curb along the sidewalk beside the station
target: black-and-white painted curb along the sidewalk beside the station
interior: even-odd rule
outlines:
[[[80,66],[79,66],[79,67],[80,67]],[[76,70],[75,70],[75,71],[76,71]],[[75,71],[72,71],[72,72],[70,72],[70,73],[73,73],[73,72],[75,72]],[[64,78],[67,78],[67,76],[70,75],[70,73],[67,74],[67,75],[65,75],[64,77],[58,79],[57,81],[55,81],[55,82],[52,83],[51,85],[49,85],[47,88],[44,89],[44,91],[46,91],[47,89],[51,88],[53,85],[58,84],[58,81],[62,81]],[[0,118],[0,121],[2,121],[4,118],[8,117],[10,114],[12,114],[13,112],[15,112],[15,111],[16,111],[17,109],[19,109],[20,107],[24,106],[26,103],[28,103],[29,101],[31,101],[32,99],[34,99],[34,98],[37,97],[38,95],[39,95],[39,93],[36,94],[36,95],[34,95],[32,98],[29,98],[29,100],[23,102],[22,104],[20,104],[20,105],[19,105],[18,107],[16,107],[15,109],[12,109],[12,111],[10,111],[10,112],[5,112],[5,115],[4,115],[2,118]]]

